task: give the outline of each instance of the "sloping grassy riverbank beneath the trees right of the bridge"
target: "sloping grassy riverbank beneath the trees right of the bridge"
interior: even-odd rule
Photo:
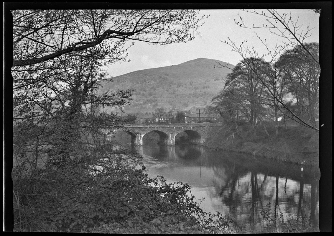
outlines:
[[[221,128],[204,145],[319,168],[319,133],[304,126],[281,126],[276,136],[275,127],[266,128],[269,137],[263,127],[252,129],[248,124],[239,126],[240,136]]]

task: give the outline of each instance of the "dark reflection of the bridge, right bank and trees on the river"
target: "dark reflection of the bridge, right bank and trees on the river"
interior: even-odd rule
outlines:
[[[230,212],[238,222],[256,226],[261,211],[268,210],[270,203],[273,219],[278,220],[281,213],[284,216],[304,216],[306,213],[308,220],[318,225],[319,183],[305,171],[302,176],[300,166],[280,165],[239,153],[205,151],[196,145],[160,146],[150,152],[159,152],[152,156],[159,156],[164,161],[177,160],[183,166],[210,169],[209,181],[214,187],[210,195],[221,199],[221,205],[216,205],[215,209],[224,214]],[[162,157],[165,155],[169,157]]]

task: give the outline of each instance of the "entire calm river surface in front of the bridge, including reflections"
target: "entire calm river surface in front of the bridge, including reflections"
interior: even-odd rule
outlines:
[[[204,198],[200,206],[206,212],[219,211],[254,224],[270,203],[272,217],[300,216],[318,226],[319,181],[306,166],[196,145],[136,148],[149,177],[188,183],[197,202]]]

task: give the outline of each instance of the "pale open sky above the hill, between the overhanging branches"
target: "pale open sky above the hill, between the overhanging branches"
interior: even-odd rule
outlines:
[[[251,9],[249,9],[251,10]],[[257,10],[262,12],[262,10]],[[266,11],[266,10],[263,10]],[[290,14],[293,19],[298,19],[298,24],[302,26],[303,32],[309,25],[311,36],[305,42],[319,42],[319,14],[307,9],[281,9],[280,13]],[[263,16],[257,16],[252,13],[237,9],[224,10],[200,10],[199,15],[209,15],[204,19],[204,24],[198,28],[199,35],[195,34],[195,39],[187,43],[173,43],[169,45],[149,45],[145,42],[136,41],[128,49],[128,59],[130,62],[118,62],[108,67],[110,76],[115,77],[127,74],[133,71],[157,68],[171,65],[178,65],[200,57],[228,62],[236,65],[242,60],[237,52],[223,41],[232,41],[239,45],[243,40],[247,40],[248,45],[263,49],[261,41],[256,33],[269,44],[269,47],[275,47],[276,43],[282,44],[282,37],[279,37],[269,31],[267,28],[247,29],[236,25],[239,21],[238,14],[249,26],[268,24]]]

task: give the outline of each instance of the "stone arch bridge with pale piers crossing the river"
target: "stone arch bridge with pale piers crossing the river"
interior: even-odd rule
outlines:
[[[217,130],[221,124],[201,123],[201,124],[127,124],[123,131],[131,134],[131,143],[143,145],[145,134],[155,131],[160,136],[160,143],[165,145],[175,145],[175,136],[181,132],[188,135],[188,140],[192,144],[202,145],[208,134]],[[117,132],[119,130],[115,130]]]

